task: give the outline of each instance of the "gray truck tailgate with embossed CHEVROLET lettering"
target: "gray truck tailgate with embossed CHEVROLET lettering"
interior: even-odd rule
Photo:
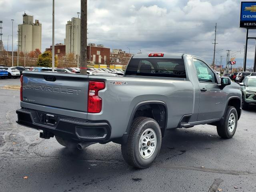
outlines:
[[[23,72],[23,102],[87,112],[88,75]]]

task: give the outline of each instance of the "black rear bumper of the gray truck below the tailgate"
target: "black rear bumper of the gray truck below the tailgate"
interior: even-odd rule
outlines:
[[[47,124],[44,120],[46,112],[20,108],[16,110],[18,124],[50,132],[56,136],[70,138],[81,142],[102,142],[108,141],[111,134],[111,127],[106,121],[88,121],[58,114],[56,125]]]

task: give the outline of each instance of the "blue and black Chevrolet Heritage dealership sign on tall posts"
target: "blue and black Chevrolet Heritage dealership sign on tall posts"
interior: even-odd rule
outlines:
[[[256,29],[256,2],[241,2],[240,27]]]

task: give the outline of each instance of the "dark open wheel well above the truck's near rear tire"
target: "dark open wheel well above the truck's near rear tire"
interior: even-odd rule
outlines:
[[[162,136],[164,136],[165,134],[165,130],[166,130],[166,124],[167,124],[167,111],[166,111],[166,107],[162,104],[145,104],[140,106],[133,117],[133,120],[136,119],[137,117],[149,117],[152,118],[154,120],[156,120],[156,122],[158,122],[161,132],[162,132]]]

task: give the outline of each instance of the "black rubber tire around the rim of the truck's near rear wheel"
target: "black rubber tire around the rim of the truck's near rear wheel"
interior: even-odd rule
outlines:
[[[148,143],[146,147],[150,147],[153,145],[155,147],[154,151],[151,156],[148,158],[142,158],[142,155],[140,154],[140,138],[144,131],[147,129],[152,129],[154,130],[154,133],[156,135],[156,145],[153,143]],[[150,133],[150,131],[147,131]],[[145,134],[143,134],[145,136]],[[150,141],[154,137],[149,138]],[[161,148],[161,143],[162,143],[162,134],[161,134],[161,129],[158,123],[148,117],[138,117],[134,120],[132,123],[132,127],[130,130],[130,134],[128,136],[128,141],[125,144],[122,144],[121,149],[122,149],[122,155],[124,160],[133,167],[144,169],[149,167],[152,162],[156,159],[158,156],[158,153]],[[143,151],[143,150],[142,150]],[[143,153],[143,152],[142,152]]]

